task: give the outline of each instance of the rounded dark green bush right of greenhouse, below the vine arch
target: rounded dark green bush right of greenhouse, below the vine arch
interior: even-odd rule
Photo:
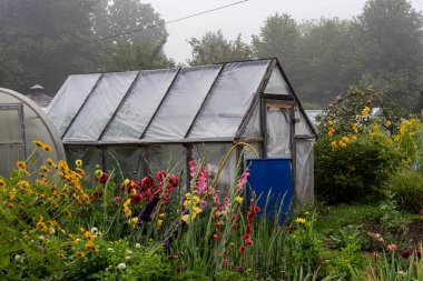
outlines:
[[[384,138],[348,138],[344,148],[338,145],[340,141],[323,137],[316,143],[317,195],[329,203],[378,197],[378,187],[400,162],[397,150]]]

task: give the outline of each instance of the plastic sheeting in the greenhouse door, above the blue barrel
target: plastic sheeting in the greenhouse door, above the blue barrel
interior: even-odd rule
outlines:
[[[267,157],[291,158],[291,110],[267,108]]]

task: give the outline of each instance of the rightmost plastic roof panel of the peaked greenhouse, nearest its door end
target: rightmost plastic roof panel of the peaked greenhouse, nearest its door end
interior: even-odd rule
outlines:
[[[226,64],[189,138],[235,137],[268,63],[247,61]]]

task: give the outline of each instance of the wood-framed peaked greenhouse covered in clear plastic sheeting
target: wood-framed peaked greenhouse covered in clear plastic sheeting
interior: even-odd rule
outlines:
[[[47,112],[67,158],[82,159],[87,170],[118,162],[125,177],[140,179],[149,171],[179,173],[189,160],[206,158],[216,173],[229,148],[247,142],[260,158],[291,159],[297,202],[314,199],[316,132],[277,59],[72,74]],[[233,183],[240,152],[219,183]]]

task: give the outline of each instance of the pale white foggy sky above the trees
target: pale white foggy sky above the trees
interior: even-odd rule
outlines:
[[[238,0],[151,0],[148,2],[166,21],[215,9]],[[361,13],[365,0],[249,0],[197,18],[167,24],[169,32],[166,53],[176,62],[186,62],[191,48],[187,40],[201,38],[206,31],[222,30],[228,39],[238,33],[245,42],[252,34],[258,34],[260,27],[270,14],[288,13],[296,20],[338,17],[350,19]],[[423,10],[423,0],[412,0],[416,10]]]

